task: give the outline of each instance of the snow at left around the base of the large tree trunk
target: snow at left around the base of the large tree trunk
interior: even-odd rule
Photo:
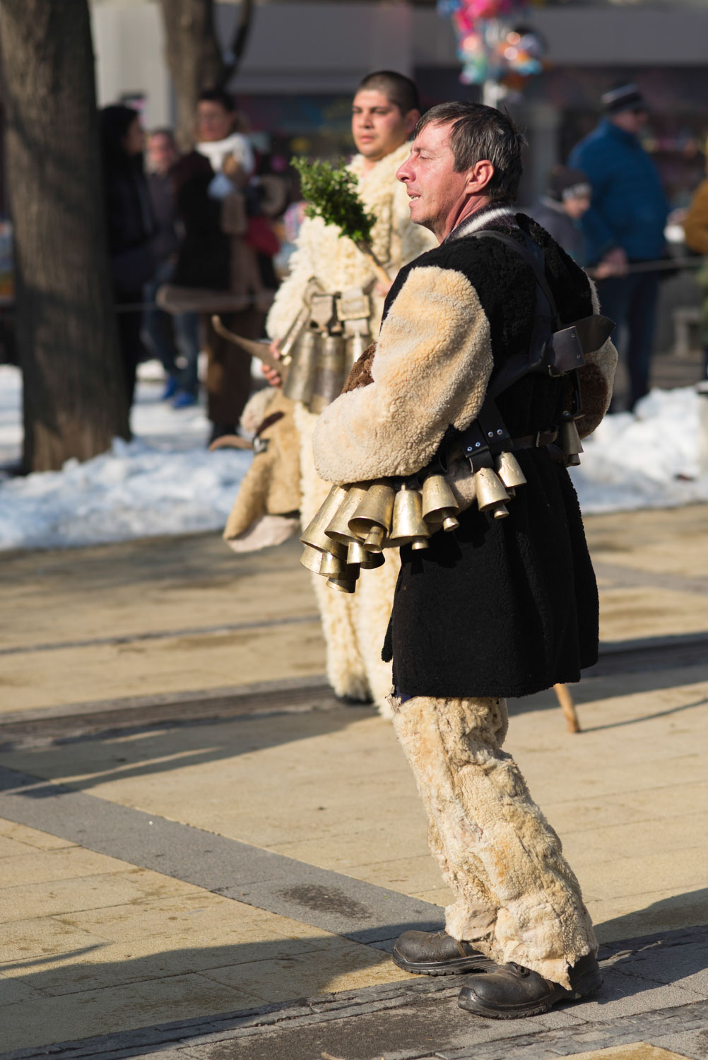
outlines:
[[[209,453],[203,408],[160,401],[162,379],[141,371],[131,442],[60,472],[0,479],[0,549],[57,548],[220,529],[250,461],[250,452]],[[155,376],[153,376],[155,378]],[[14,407],[13,407],[14,403]],[[20,455],[21,384],[0,368],[3,460]]]

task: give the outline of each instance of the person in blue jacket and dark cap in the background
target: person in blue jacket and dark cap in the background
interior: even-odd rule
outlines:
[[[586,262],[602,312],[626,332],[629,408],[649,391],[659,273],[633,269],[665,257],[669,213],[659,174],[639,142],[647,103],[636,85],[602,96],[604,117],[578,143],[568,165],[583,170],[592,200],[582,218]]]

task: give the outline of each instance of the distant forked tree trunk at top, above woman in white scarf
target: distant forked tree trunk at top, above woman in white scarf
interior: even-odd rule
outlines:
[[[241,0],[240,17],[225,60],[214,31],[214,0],[160,0],[166,58],[177,102],[180,147],[194,143],[197,98],[205,88],[224,88],[236,71],[248,40],[253,0]]]

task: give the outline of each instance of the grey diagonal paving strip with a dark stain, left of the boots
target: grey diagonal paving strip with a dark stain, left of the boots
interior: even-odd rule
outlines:
[[[440,926],[438,907],[419,899],[1,766],[0,817],[88,848],[71,848],[67,855],[83,859],[79,866],[57,867],[54,858],[54,879],[57,872],[86,876],[92,867],[89,851],[96,851],[102,855],[94,860],[96,872],[110,871],[105,864],[110,854],[356,941]],[[20,859],[18,879],[36,874],[25,862]]]

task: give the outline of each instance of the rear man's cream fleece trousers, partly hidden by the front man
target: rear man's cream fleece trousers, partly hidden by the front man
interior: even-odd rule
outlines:
[[[317,416],[296,406],[295,422],[300,435],[300,473],[303,527],[330,492],[313,460],[313,431]],[[399,553],[388,549],[383,567],[362,570],[356,593],[337,593],[319,575],[313,575],[317,604],[326,646],[326,676],[337,695],[373,700],[380,713],[390,716],[391,664],[380,653],[393,603],[400,568]]]

